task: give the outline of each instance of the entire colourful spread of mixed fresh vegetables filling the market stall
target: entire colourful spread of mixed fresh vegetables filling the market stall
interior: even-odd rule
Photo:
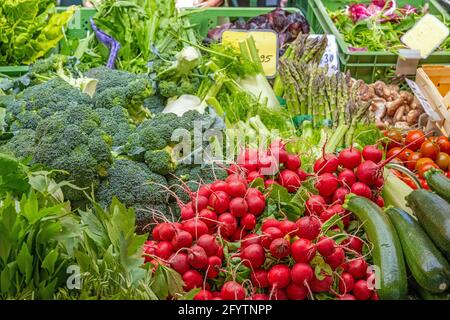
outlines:
[[[0,37],[4,64],[30,64],[0,75],[1,299],[449,299],[450,142],[401,82],[329,70],[298,11],[204,41],[195,10],[102,1],[57,53],[75,8],[54,8],[36,2],[30,47]],[[332,15],[395,51],[423,11]],[[228,29],[278,34],[274,79]]]

